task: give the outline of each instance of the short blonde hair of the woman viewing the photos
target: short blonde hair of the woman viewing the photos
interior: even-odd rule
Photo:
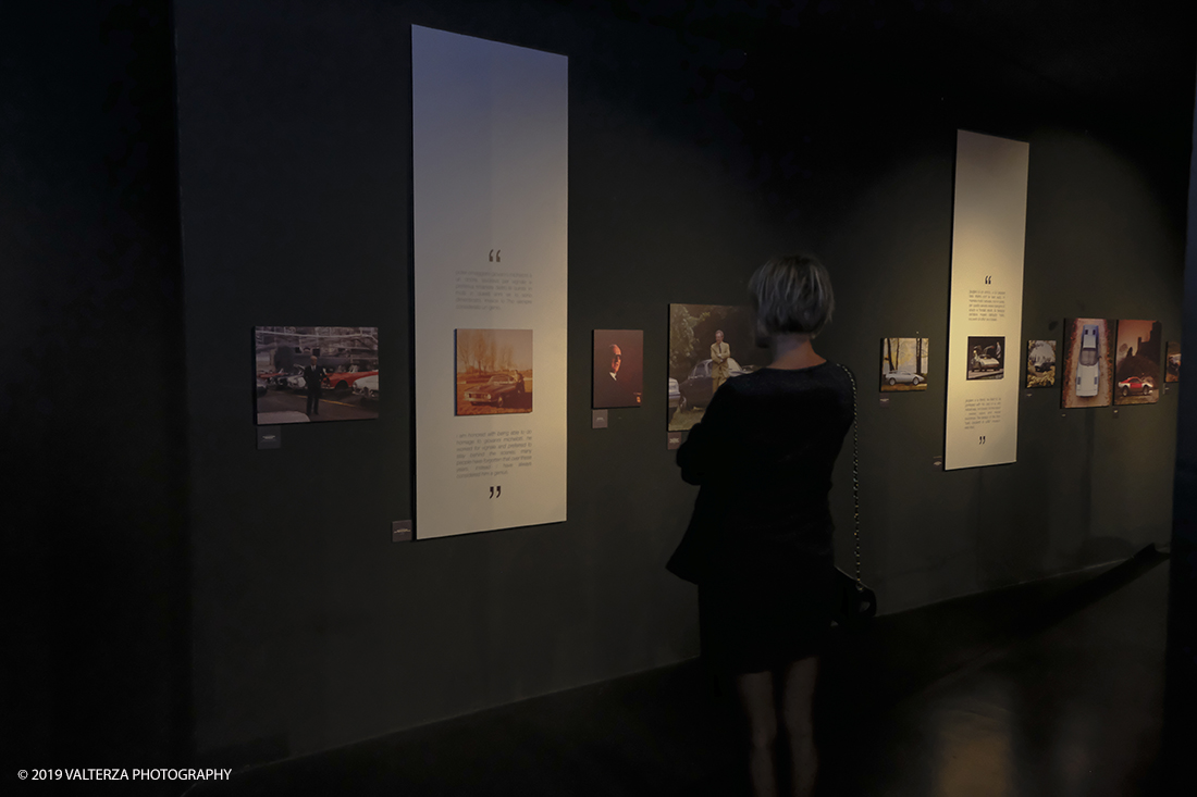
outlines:
[[[836,309],[827,267],[810,255],[773,257],[748,280],[757,331],[764,336],[822,331]]]

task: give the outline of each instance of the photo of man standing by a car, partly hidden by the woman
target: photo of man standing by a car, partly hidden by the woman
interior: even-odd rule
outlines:
[[[768,349],[757,346],[752,308],[670,304],[669,431],[694,426],[723,383],[768,361]]]

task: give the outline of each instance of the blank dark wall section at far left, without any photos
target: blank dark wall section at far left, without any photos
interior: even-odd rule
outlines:
[[[169,11],[0,6],[6,780],[189,747]]]

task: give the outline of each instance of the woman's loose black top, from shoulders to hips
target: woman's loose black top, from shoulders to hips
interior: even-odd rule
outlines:
[[[701,544],[680,547],[701,554],[686,570],[747,583],[831,567],[828,494],[852,415],[834,363],[724,383],[678,450],[682,479],[700,487],[687,536]]]

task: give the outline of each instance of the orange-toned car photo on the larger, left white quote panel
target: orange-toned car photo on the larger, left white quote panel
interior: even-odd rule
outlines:
[[[531,330],[458,329],[457,415],[531,412]]]

